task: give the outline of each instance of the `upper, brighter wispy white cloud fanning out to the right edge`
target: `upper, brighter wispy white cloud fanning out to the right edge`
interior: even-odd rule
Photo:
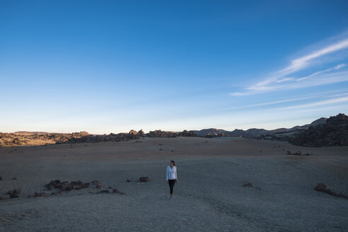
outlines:
[[[348,48],[348,39],[340,40],[323,47],[319,50],[315,50],[302,57],[291,61],[286,68],[276,71],[271,74],[269,78],[255,83],[252,86],[248,86],[242,92],[231,93],[231,95],[252,95],[256,93],[265,93],[270,91],[279,91],[292,88],[304,88],[309,86],[318,86],[328,83],[337,83],[341,81],[348,81],[348,71],[338,71],[347,67],[347,64],[336,64],[328,69],[315,71],[313,74],[306,76],[296,76],[298,71],[306,71],[313,67],[314,62],[318,62],[325,56],[345,50]],[[348,54],[345,54],[347,56]],[[323,62],[323,60],[322,60]],[[308,70],[307,70],[308,71]],[[315,81],[314,81],[315,79]]]

